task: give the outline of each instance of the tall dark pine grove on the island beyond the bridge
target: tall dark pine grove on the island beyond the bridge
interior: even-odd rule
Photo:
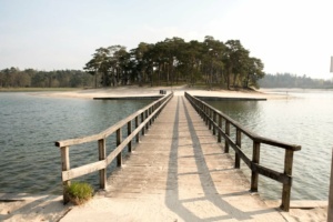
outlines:
[[[263,67],[239,40],[205,37],[203,42],[185,42],[173,37],[141,42],[129,51],[118,44],[101,47],[83,69],[94,77],[95,87],[186,83],[232,89],[256,88],[264,77]]]

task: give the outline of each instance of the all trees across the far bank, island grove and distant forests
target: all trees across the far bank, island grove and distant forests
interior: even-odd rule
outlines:
[[[0,70],[0,89],[110,88],[121,85],[188,85],[204,89],[333,88],[332,81],[305,75],[265,74],[263,62],[250,57],[239,40],[184,41],[174,37],[134,49],[101,47],[83,70]]]

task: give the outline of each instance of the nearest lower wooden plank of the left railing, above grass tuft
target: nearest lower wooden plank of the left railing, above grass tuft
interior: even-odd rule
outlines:
[[[81,165],[68,171],[62,171],[62,180],[71,180],[74,178],[79,178],[81,175],[85,175],[88,173],[92,173],[99,170],[102,170],[107,167],[105,160],[101,160],[98,162],[89,163],[85,165]]]

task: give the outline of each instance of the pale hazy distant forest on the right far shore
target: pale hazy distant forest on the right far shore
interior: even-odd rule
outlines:
[[[333,75],[332,75],[333,77]],[[331,80],[311,79],[290,73],[265,74],[259,80],[261,88],[304,88],[304,89],[333,89]]]

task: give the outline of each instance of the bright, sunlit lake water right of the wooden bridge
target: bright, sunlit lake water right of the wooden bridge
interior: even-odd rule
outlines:
[[[286,94],[286,90],[272,93]],[[293,98],[209,103],[260,135],[302,145],[294,153],[292,199],[326,200],[333,148],[333,91],[289,90],[287,94]],[[242,149],[251,158],[252,143],[244,140]],[[283,172],[283,160],[284,150],[262,145],[261,163]],[[260,176],[259,189],[264,198],[281,198],[282,184],[264,176]]]

